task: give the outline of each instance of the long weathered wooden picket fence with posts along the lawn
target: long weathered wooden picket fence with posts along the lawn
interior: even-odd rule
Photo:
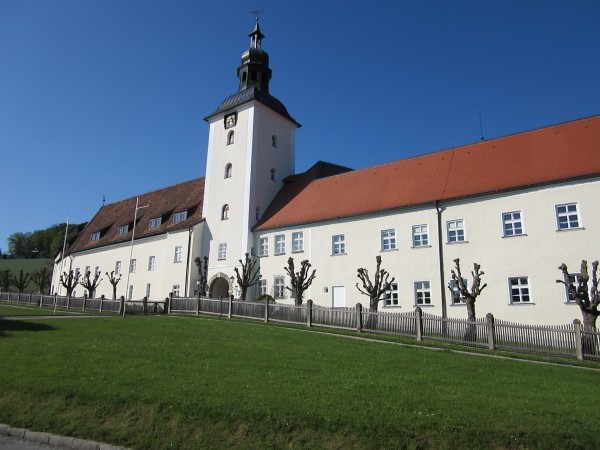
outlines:
[[[62,297],[58,295],[0,292],[8,303],[59,307],[81,311],[117,314],[195,314],[244,318],[264,322],[305,324],[325,328],[355,330],[359,333],[389,334],[449,342],[490,350],[536,353],[566,358],[600,361],[600,333],[585,331],[581,322],[556,326],[534,326],[495,319],[491,314],[474,322],[444,319],[424,313],[417,307],[404,313],[372,312],[359,303],[354,308],[327,308],[308,300],[302,306],[269,302],[246,302],[232,298],[181,298],[164,301],[147,299],[125,301]]]

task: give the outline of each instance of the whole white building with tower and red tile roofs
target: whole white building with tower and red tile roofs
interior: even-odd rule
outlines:
[[[263,276],[255,296],[293,301],[284,289],[291,256],[317,270],[306,298],[367,304],[355,286],[357,269],[373,272],[381,255],[395,282],[380,309],[418,305],[466,318],[447,287],[460,258],[466,278],[474,262],[485,271],[478,316],[532,324],[580,317],[555,280],[562,262],[577,272],[581,259],[600,253],[600,116],[363,170],[318,162],[295,174],[299,124],[269,93],[263,37],[257,23],[238,68],[238,92],[206,118],[206,178],[140,196],[140,206],[149,206],[138,210],[131,297],[148,294],[147,286],[150,298],[194,295],[194,259],[203,256],[211,295],[227,295],[235,292],[234,267],[250,253]],[[63,266],[104,273],[119,261],[125,278],[135,200],[101,208]],[[111,289],[105,280],[97,295]],[[124,281],[118,295],[126,295]]]

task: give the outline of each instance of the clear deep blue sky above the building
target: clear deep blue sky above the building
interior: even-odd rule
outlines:
[[[2,251],[203,176],[256,8],[297,171],[600,114],[598,0],[0,0]]]

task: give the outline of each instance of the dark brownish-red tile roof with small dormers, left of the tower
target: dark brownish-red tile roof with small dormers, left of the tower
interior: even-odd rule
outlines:
[[[163,234],[200,223],[202,221],[203,199],[204,178],[197,178],[175,186],[141,194],[139,196],[139,206],[148,205],[148,207],[138,209],[135,239]],[[69,252],[131,241],[135,202],[136,198],[132,197],[102,206],[79,233],[69,248]],[[183,211],[187,211],[187,218],[174,223],[174,214]],[[161,225],[149,228],[150,219],[157,217],[161,218]],[[125,234],[118,234],[117,230],[122,225],[129,225],[129,231]],[[92,241],[91,235],[97,232],[100,233],[100,239]]]

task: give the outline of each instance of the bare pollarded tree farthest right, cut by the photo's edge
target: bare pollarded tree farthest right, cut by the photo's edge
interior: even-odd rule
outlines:
[[[581,274],[578,276],[577,287],[573,284],[572,279],[574,277],[569,274],[569,269],[565,263],[562,263],[558,269],[563,273],[563,279],[556,280],[556,282],[564,284],[569,290],[569,295],[579,305],[583,317],[583,329],[595,332],[596,319],[600,315],[600,311],[598,311],[600,304],[600,295],[598,294],[598,261],[592,263],[591,286],[589,286],[590,275],[586,260],[581,261]]]

